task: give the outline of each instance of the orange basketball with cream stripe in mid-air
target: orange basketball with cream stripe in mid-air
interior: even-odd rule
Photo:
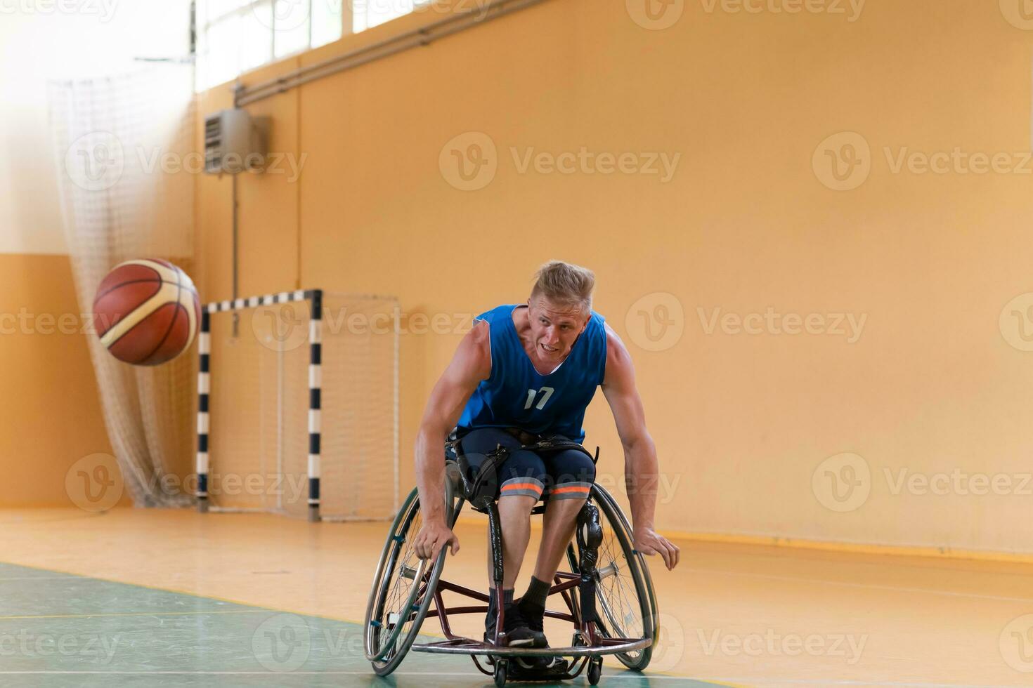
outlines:
[[[164,260],[117,265],[97,288],[93,323],[120,361],[158,365],[182,354],[200,323],[200,300],[187,273]]]

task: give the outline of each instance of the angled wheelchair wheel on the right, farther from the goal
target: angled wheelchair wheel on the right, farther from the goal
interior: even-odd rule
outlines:
[[[656,643],[657,607],[653,581],[645,557],[631,544],[631,525],[614,497],[592,486],[592,502],[599,509],[602,545],[596,565],[597,626],[605,637],[649,637]],[[577,571],[574,546],[567,547],[567,563]],[[630,669],[645,669],[653,657],[653,646],[618,653],[617,659]]]

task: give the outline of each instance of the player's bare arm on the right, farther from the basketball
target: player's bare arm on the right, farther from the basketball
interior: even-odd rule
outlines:
[[[617,333],[606,325],[606,373],[602,393],[614,413],[617,433],[624,448],[624,474],[631,502],[634,548],[659,554],[668,569],[678,565],[679,549],[654,530],[656,493],[660,478],[656,446],[646,429],[646,412],[635,388],[631,355]]]

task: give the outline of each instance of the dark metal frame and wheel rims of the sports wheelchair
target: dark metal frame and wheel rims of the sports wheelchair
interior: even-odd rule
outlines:
[[[458,443],[450,443],[450,448],[455,450]],[[580,446],[578,446],[580,447]],[[583,450],[584,451],[584,450]],[[598,452],[597,452],[598,455]],[[488,459],[478,470],[471,471],[462,453],[452,459],[448,458],[445,466],[445,500],[447,513],[446,522],[449,527],[456,523],[456,519],[464,503],[469,502],[471,506],[488,515],[492,562],[493,562],[493,583],[498,591],[498,598],[502,598],[502,530],[499,522],[498,504],[495,501],[494,473],[508,456],[507,450],[499,447],[488,455]],[[591,456],[591,455],[590,455]],[[488,466],[486,469],[484,466]],[[492,473],[492,474],[486,474]],[[639,609],[648,612],[643,614],[643,636],[629,638],[614,636],[607,630],[608,625],[619,626],[619,621],[614,620],[613,611],[606,607],[606,602],[601,597],[597,599],[597,583],[607,576],[617,575],[616,563],[596,567],[598,562],[598,549],[603,539],[603,530],[599,520],[599,509],[593,504],[593,499],[601,503],[606,502],[604,511],[606,519],[615,531],[619,540],[622,553],[628,559],[628,567],[632,570],[632,577],[636,587],[636,597]],[[532,510],[532,514],[540,514],[544,511],[543,505],[538,504]],[[656,637],[656,597],[653,592],[653,584],[646,565],[645,558],[638,552],[631,549],[631,533],[627,519],[621,512],[617,502],[601,487],[593,485],[592,492],[585,505],[577,515],[577,527],[575,540],[578,551],[574,552],[573,544],[567,545],[567,560],[571,572],[559,570],[556,572],[554,585],[549,591],[549,595],[560,595],[566,607],[566,612],[545,611],[545,616],[564,621],[570,621],[574,626],[572,644],[569,647],[556,648],[509,648],[505,647],[501,641],[501,628],[504,623],[504,610],[498,610],[498,618],[495,626],[494,642],[486,643],[475,641],[452,632],[449,624],[449,615],[460,614],[486,614],[488,612],[487,602],[489,596],[482,592],[471,590],[470,588],[441,580],[441,571],[444,564],[444,557],[447,548],[442,548],[438,558],[433,565],[418,563],[414,568],[407,566],[402,561],[398,568],[398,576],[412,581],[412,590],[409,593],[406,605],[402,613],[388,614],[388,618],[395,616],[394,627],[390,627],[390,641],[386,647],[377,648],[377,629],[381,627],[377,611],[381,609],[386,597],[387,583],[385,575],[390,576],[390,570],[398,564],[398,555],[404,547],[412,521],[418,512],[418,493],[414,489],[406,500],[405,505],[399,513],[392,532],[388,533],[384,551],[381,554],[377,572],[374,578],[374,587],[370,594],[370,600],[366,614],[366,654],[367,659],[373,663],[373,667],[379,675],[386,675],[394,670],[404,659],[405,654],[411,648],[413,652],[427,652],[437,654],[463,654],[470,655],[474,665],[482,674],[494,676],[495,683],[499,688],[505,685],[507,679],[521,681],[541,681],[541,680],[567,680],[580,676],[586,667],[588,668],[588,679],[591,685],[596,685],[601,676],[602,655],[622,655],[641,651],[641,659],[636,664],[629,663],[625,658],[618,657],[622,663],[637,670],[641,670],[649,663],[651,652],[648,650]],[[403,523],[405,519],[408,519]],[[400,528],[406,529],[405,533],[400,533]],[[411,534],[415,534],[414,532]],[[580,554],[580,556],[577,556]],[[426,562],[430,564],[431,562]],[[417,582],[418,577],[418,582]],[[574,595],[576,588],[578,594]],[[470,599],[483,602],[483,605],[463,605],[447,607],[442,593],[453,592]],[[645,595],[645,599],[644,596]],[[434,601],[435,609],[430,610],[430,602]],[[603,618],[600,619],[596,602],[603,605]],[[405,618],[402,618],[405,614]],[[377,617],[376,619],[374,617]],[[428,618],[437,618],[444,641],[414,644],[415,636],[419,632],[421,623]],[[396,644],[402,633],[402,628],[406,622],[412,621],[413,626],[405,631],[405,638],[402,638],[400,647]],[[388,623],[389,626],[389,623]],[[400,654],[398,654],[400,653]],[[489,670],[477,657],[487,657],[488,663],[493,665]],[[569,667],[564,667],[559,673],[534,674],[521,666],[520,658],[529,657],[571,657],[573,661]],[[384,665],[378,666],[377,662],[386,661]],[[510,662],[513,662],[510,665]]]

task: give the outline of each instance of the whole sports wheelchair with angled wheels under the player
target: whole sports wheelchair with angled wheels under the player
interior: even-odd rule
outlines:
[[[471,466],[459,449],[455,432],[445,447],[445,522],[453,527],[465,504],[488,516],[493,583],[502,598],[502,530],[495,498],[497,472],[508,456],[498,446],[484,460]],[[539,438],[522,449],[557,451],[580,449],[570,440]],[[593,461],[598,459],[596,449]],[[589,454],[589,456],[592,456]],[[544,513],[536,504],[531,514]],[[449,583],[441,578],[447,547],[433,560],[416,557],[411,540],[419,531],[419,496],[414,488],[399,510],[387,533],[377,563],[366,609],[364,645],[366,658],[378,676],[387,676],[405,659],[409,650],[439,654],[469,655],[482,674],[494,677],[499,688],[511,681],[563,681],[588,669],[589,684],[596,685],[602,674],[602,656],[614,655],[633,670],[645,669],[657,638],[658,612],[653,581],[645,557],[632,548],[631,527],[614,497],[593,485],[589,498],[577,515],[577,527],[567,545],[566,568],[561,563],[549,591],[550,598],[562,598],[565,611],[546,607],[545,616],[571,622],[568,647],[509,648],[500,643],[503,610],[499,610],[494,642],[463,637],[452,632],[449,617],[488,612],[486,593]],[[576,543],[576,548],[574,547]],[[443,593],[456,593],[473,605],[447,605]],[[431,602],[434,609],[431,609]],[[421,624],[436,617],[446,640],[415,643]],[[478,660],[483,658],[483,663]],[[539,657],[569,658],[559,668],[535,668]]]

